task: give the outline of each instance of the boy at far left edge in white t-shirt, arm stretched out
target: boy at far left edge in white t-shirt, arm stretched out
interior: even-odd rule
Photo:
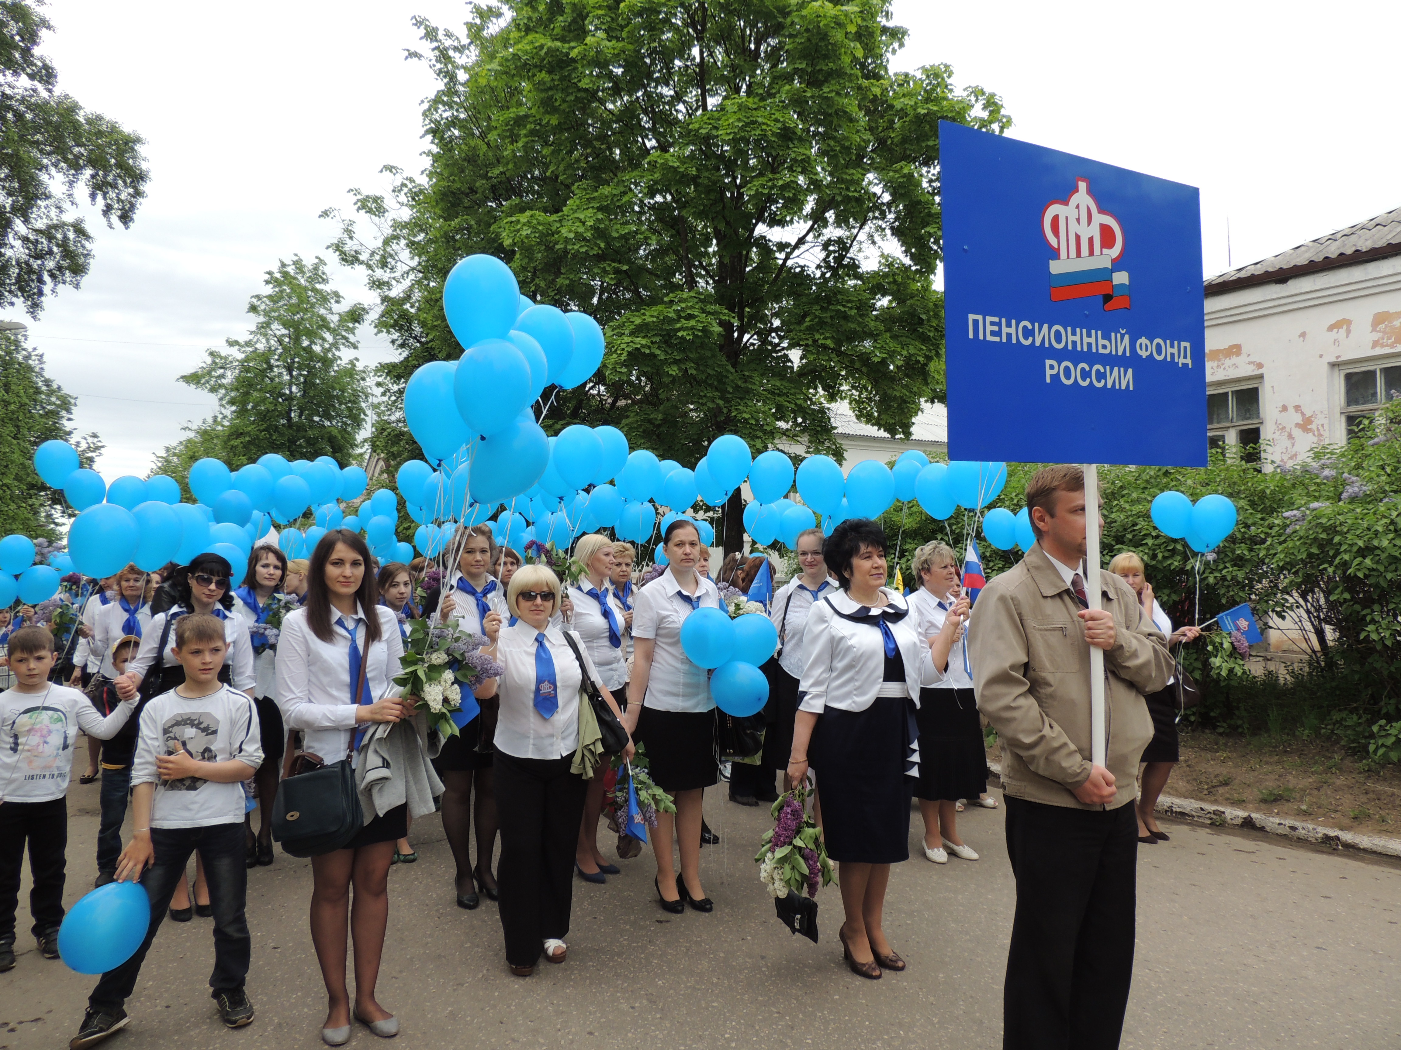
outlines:
[[[15,685],[0,693],[0,972],[14,969],[27,843],[34,935],[45,959],[59,958],[73,745],[78,729],[95,739],[115,736],[136,710],[136,700],[127,700],[104,718],[77,689],[49,682],[53,634],[46,627],[11,634],[8,658]]]

